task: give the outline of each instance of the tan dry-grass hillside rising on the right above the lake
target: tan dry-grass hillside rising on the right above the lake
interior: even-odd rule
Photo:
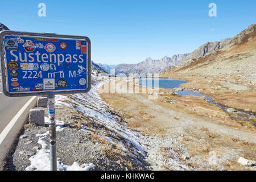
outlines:
[[[178,64],[180,67],[166,70],[164,75],[171,72],[195,73],[216,77],[228,75],[228,77],[236,77],[238,82],[245,82],[244,84],[246,85],[255,86],[256,24],[252,24],[233,39],[225,41],[224,44],[222,42],[222,44],[218,45],[220,45],[219,49],[193,58],[189,62],[191,55],[196,55],[195,52],[199,52],[199,49],[202,51],[203,46],[201,46],[180,62]]]

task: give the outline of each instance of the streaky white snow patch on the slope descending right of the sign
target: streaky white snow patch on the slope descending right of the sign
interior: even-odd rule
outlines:
[[[123,125],[121,126],[115,120],[113,115],[110,114],[105,107],[102,107],[108,105],[101,100],[101,97],[97,93],[98,88],[100,88],[103,84],[105,84],[105,82],[98,82],[97,85],[92,85],[90,92],[87,94],[72,94],[70,97],[56,95],[55,104],[74,108],[72,104],[63,102],[63,100],[71,101],[76,105],[76,108],[74,109],[80,110],[82,113],[95,118],[97,122],[121,136],[125,140],[125,143],[109,137],[106,137],[106,140],[118,144],[123,151],[128,152],[131,156],[138,155],[138,153],[145,154],[142,136],[136,131],[127,129]],[[133,151],[134,154],[129,151]]]

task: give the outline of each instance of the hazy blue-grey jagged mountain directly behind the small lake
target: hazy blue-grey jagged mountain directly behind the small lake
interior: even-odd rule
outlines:
[[[189,54],[174,55],[172,57],[163,57],[159,60],[153,60],[151,57],[148,57],[146,60],[138,64],[118,64],[115,67],[115,75],[119,73],[124,73],[126,76],[129,76],[129,73],[137,73],[138,76],[147,75],[147,73],[159,73],[162,69],[167,66],[174,66],[187,57]]]

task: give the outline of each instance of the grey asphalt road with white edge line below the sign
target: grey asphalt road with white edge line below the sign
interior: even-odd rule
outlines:
[[[6,155],[9,153],[11,147],[13,147],[28,117],[29,110],[35,106],[36,98],[31,101],[31,97],[6,97],[2,92],[1,81],[0,84],[0,170],[2,170]],[[31,101],[30,104],[28,104],[27,107],[23,107],[28,101]],[[22,112],[20,111],[21,109]],[[14,125],[11,123],[14,123]],[[9,130],[6,130],[7,128],[9,128]],[[5,132],[3,132],[4,130]],[[3,135],[4,133],[6,134]]]

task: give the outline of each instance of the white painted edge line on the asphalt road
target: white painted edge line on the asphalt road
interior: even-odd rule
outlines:
[[[5,139],[6,135],[9,133],[9,131],[11,130],[11,128],[14,126],[14,124],[16,123],[16,121],[18,121],[18,118],[20,117],[20,115],[22,115],[22,113],[24,112],[24,110],[26,110],[27,106],[31,104],[31,102],[36,98],[36,96],[33,96],[29,101],[27,101],[27,103],[22,107],[22,109],[20,109],[18,111],[18,113],[14,116],[13,119],[11,119],[11,121],[9,122],[9,124],[5,127],[5,129],[2,131],[2,133],[0,134],[0,145],[2,144],[3,140]]]

